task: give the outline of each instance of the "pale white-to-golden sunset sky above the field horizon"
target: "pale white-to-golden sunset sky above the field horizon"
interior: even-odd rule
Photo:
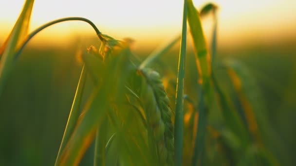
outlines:
[[[4,2],[4,3],[3,3]],[[7,36],[24,0],[3,0],[0,5],[0,39]],[[200,8],[208,0],[194,0]],[[220,6],[219,40],[274,40],[295,35],[296,0],[212,0]],[[35,0],[31,31],[61,17],[86,17],[99,30],[139,42],[165,41],[181,32],[183,0]],[[204,21],[205,32],[210,20]],[[94,33],[89,25],[66,22],[48,28],[37,38],[58,41],[71,34]],[[49,38],[50,36],[50,38]]]

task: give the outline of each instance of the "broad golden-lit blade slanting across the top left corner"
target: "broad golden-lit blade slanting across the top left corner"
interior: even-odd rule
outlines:
[[[34,0],[25,1],[22,12],[7,42],[4,42],[4,45],[1,47],[3,54],[0,62],[0,95],[13,68],[15,52],[18,46],[23,42],[23,39],[27,36],[33,4]]]

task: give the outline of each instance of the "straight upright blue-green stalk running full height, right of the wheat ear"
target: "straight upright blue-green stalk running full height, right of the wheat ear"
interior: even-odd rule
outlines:
[[[184,0],[183,25],[181,48],[178,66],[176,110],[175,110],[175,166],[182,166],[183,154],[183,119],[184,119],[184,81],[185,81],[185,56],[186,56],[186,30],[187,30],[187,1]]]

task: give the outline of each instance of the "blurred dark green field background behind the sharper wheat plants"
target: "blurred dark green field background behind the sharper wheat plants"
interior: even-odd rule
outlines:
[[[89,44],[91,44],[90,42]],[[263,92],[267,116],[278,134],[282,162],[295,163],[296,57],[295,41],[240,48],[219,48],[219,57],[233,57],[249,66]],[[95,44],[94,42],[92,44]],[[21,54],[0,98],[1,165],[53,165],[66,126],[81,64],[75,57],[79,41],[67,47],[28,47]],[[87,48],[81,46],[81,48]],[[139,55],[144,51],[135,50]],[[164,58],[177,70],[178,47]],[[187,73],[195,73],[193,51]],[[186,83],[196,80],[187,74]],[[91,84],[90,84],[91,85]],[[190,85],[188,85],[190,86]],[[190,93],[190,89],[187,89]],[[279,150],[279,149],[277,149]]]

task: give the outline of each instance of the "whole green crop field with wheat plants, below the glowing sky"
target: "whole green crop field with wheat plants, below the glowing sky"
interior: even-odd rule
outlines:
[[[83,17],[28,33],[33,4],[0,40],[0,166],[295,165],[296,36],[221,45],[219,4],[184,0],[180,36],[133,49]],[[69,20],[93,35],[30,44]]]

